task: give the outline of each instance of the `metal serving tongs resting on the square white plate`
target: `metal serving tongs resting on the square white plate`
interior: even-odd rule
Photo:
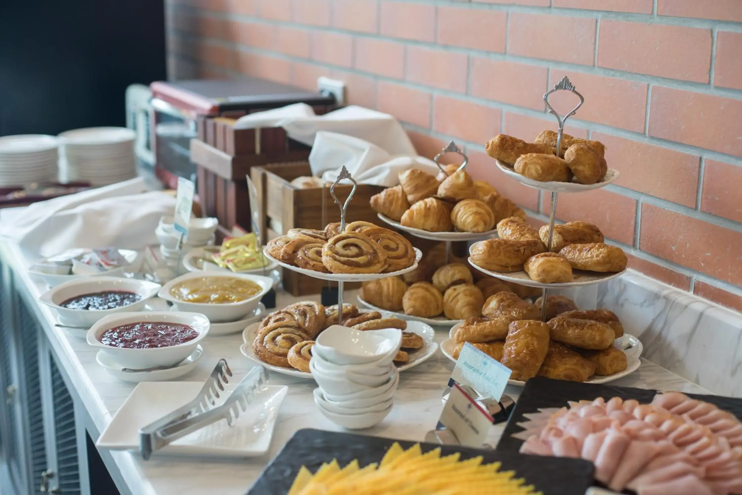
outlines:
[[[234,425],[240,413],[244,413],[247,404],[252,401],[257,390],[268,379],[266,369],[256,366],[245,378],[234,387],[223,404],[216,406],[219,391],[224,391],[224,384],[232,376],[227,361],[220,359],[211,376],[206,379],[198,395],[188,404],[163,416],[155,422],[139,429],[139,452],[147,460],[155,450],[160,450],[177,439],[183,438],[220,419],[226,419],[229,426]],[[241,406],[241,408],[240,408]]]

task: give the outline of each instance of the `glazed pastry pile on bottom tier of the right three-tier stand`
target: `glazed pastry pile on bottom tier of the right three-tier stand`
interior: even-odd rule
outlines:
[[[541,321],[541,298],[531,304],[513,292],[487,298],[484,318],[468,318],[456,330],[453,358],[466,342],[501,362],[513,380],[545,376],[586,381],[626,370],[626,354],[614,341],[623,325],[608,309],[580,311],[559,295],[547,298],[548,322]]]

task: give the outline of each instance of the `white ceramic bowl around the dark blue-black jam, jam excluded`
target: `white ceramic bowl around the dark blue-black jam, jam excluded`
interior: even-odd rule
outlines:
[[[69,327],[90,327],[99,319],[120,312],[139,311],[148,300],[154,298],[161,286],[159,283],[119,277],[77,277],[47,290],[39,297],[42,302],[56,311],[59,323]],[[59,306],[68,299],[94,292],[125,291],[135,292],[139,301],[114,309],[69,309]]]

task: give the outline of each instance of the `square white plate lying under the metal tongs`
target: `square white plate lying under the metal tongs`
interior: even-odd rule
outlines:
[[[239,380],[226,384],[234,389]],[[187,404],[201,390],[200,381],[140,383],[99,436],[96,446],[111,450],[139,450],[139,428]],[[255,457],[268,451],[286,385],[266,385],[255,394],[233,427],[218,421],[176,440],[155,456]],[[217,404],[229,394],[224,393]]]

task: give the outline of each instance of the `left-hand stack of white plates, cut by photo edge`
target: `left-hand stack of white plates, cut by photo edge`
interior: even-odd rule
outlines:
[[[43,134],[0,137],[0,186],[56,182],[57,142]]]

